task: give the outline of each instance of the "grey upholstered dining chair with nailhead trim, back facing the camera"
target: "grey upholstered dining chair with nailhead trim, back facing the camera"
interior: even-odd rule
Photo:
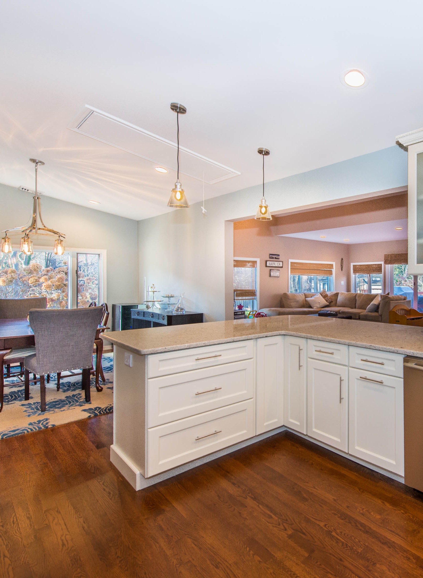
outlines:
[[[24,360],[25,387],[29,372],[40,376],[41,411],[46,411],[44,375],[82,369],[85,401],[91,401],[92,349],[103,307],[84,309],[32,309],[29,325],[35,336],[35,355]]]

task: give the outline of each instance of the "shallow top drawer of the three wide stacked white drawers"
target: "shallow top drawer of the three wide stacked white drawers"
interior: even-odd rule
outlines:
[[[201,369],[212,365],[252,359],[254,340],[221,343],[207,347],[194,347],[155,353],[147,356],[147,377],[160,377],[192,369]]]

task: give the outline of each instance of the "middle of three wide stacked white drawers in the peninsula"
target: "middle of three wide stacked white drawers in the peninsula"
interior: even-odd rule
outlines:
[[[147,380],[147,427],[252,398],[253,366],[236,361]]]

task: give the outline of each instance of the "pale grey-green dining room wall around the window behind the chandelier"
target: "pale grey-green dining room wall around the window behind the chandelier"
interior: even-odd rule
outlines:
[[[106,249],[107,303],[136,303],[138,295],[137,222],[109,213],[42,197],[46,227],[66,235],[65,247]],[[27,224],[32,214],[32,195],[0,184],[0,231]],[[14,235],[13,240],[20,239]],[[38,236],[34,245],[53,247],[54,239]]]

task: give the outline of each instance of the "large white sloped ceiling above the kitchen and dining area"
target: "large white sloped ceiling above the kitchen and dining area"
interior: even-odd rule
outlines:
[[[383,9],[381,9],[383,6]],[[168,211],[175,171],[69,130],[89,104],[240,173],[206,197],[394,144],[421,127],[421,2],[4,0],[0,182],[131,218]],[[365,88],[340,74],[360,68]],[[159,159],[158,159],[159,161]],[[181,167],[182,168],[182,167]],[[190,203],[202,183],[180,179]],[[275,208],[277,209],[277,208]]]

